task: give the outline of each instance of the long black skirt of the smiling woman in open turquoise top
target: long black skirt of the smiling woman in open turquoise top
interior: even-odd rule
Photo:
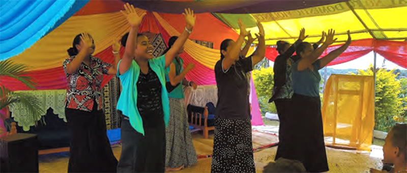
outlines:
[[[162,116],[142,116],[144,136],[122,118],[122,155],[118,172],[164,172],[165,124]]]

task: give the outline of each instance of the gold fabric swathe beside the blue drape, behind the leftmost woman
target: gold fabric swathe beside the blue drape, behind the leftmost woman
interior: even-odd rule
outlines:
[[[11,60],[28,66],[29,70],[60,67],[68,57],[67,49],[72,47],[72,41],[77,34],[87,32],[92,35],[96,54],[109,47],[114,38],[121,37],[128,30],[129,24],[120,12],[72,16]]]

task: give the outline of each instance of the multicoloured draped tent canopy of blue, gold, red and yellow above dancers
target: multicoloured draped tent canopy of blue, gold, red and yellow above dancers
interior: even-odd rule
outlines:
[[[21,32],[17,33],[18,35],[13,35],[11,32],[8,35],[4,35],[4,31],[10,29],[6,27],[8,25],[4,25],[3,23],[7,24],[7,22],[10,21],[4,20],[3,16],[12,13],[5,9],[7,6],[10,6],[11,3],[16,2],[17,1],[6,1],[5,4],[0,6],[2,10],[2,19],[0,19],[0,24],[2,24],[0,30],[2,32],[2,36],[0,37],[2,38],[2,40],[0,40],[2,48],[0,49],[0,53],[2,54],[0,60],[8,59],[9,57],[5,56],[5,54],[8,53],[12,56],[11,60],[14,62],[27,65],[31,70],[30,75],[39,83],[38,88],[42,90],[64,89],[66,87],[65,75],[61,66],[62,62],[68,56],[66,50],[72,46],[72,40],[75,35],[81,32],[90,33],[96,42],[95,55],[102,57],[105,61],[112,62],[113,56],[109,50],[111,41],[113,38],[121,37],[128,31],[128,24],[119,12],[123,9],[123,4],[126,1],[71,0],[58,1],[62,7],[68,6],[69,3],[71,5],[70,8],[65,10],[61,7],[58,12],[62,13],[62,11],[65,11],[65,13],[61,15],[53,15],[53,17],[47,15],[48,18],[44,19],[41,18],[44,15],[38,16],[36,13],[37,16],[31,18],[34,22],[43,19],[41,20],[42,26],[49,26],[45,31],[37,26],[36,23],[32,22],[30,25],[27,25],[24,30],[21,30],[23,27],[20,26]],[[30,5],[33,4],[38,4],[37,6],[39,6],[42,1],[21,2],[26,4],[25,7],[31,7]],[[300,28],[305,27],[307,34],[310,35],[307,41],[315,42],[319,40],[321,31],[328,30],[328,28],[332,27],[337,31],[339,44],[346,40],[346,36],[343,34],[348,29],[351,30],[352,39],[354,41],[350,48],[329,65],[351,61],[374,50],[383,55],[386,59],[407,68],[406,42],[400,41],[407,38],[407,23],[401,22],[404,18],[407,18],[407,13],[405,13],[405,11],[407,11],[407,1],[290,1],[290,4],[286,4],[288,3],[286,1],[239,2],[241,3],[236,3],[235,1],[190,2],[176,0],[160,2],[131,1],[130,3],[133,3],[136,7],[156,11],[153,13],[149,12],[147,17],[144,18],[139,32],[160,33],[164,37],[164,40],[170,36],[179,35],[179,33],[184,30],[185,23],[182,19],[182,15],[179,14],[183,12],[182,8],[184,8],[184,6],[195,4],[195,7],[196,4],[202,5],[202,7],[196,7],[197,9],[194,10],[206,13],[197,14],[196,25],[190,39],[212,42],[213,48],[201,46],[193,41],[187,41],[185,44],[185,53],[181,55],[185,59],[186,64],[189,62],[195,64],[196,68],[188,73],[187,78],[196,80],[199,84],[215,83],[213,67],[216,61],[219,60],[220,43],[226,38],[236,39],[238,37],[239,31],[236,25],[238,18],[243,19],[250,27],[249,30],[251,30],[252,33],[255,33],[257,30],[257,28],[254,27],[256,20],[264,24],[268,40],[267,44],[270,45],[270,47],[267,48],[266,57],[272,61],[277,55],[277,51],[273,46],[277,40],[284,39],[289,42],[294,42],[299,34],[298,31]],[[302,4],[296,4],[299,2]],[[167,4],[168,6],[159,6],[156,3]],[[265,3],[268,5],[266,6]],[[42,12],[50,12],[49,9],[56,6],[56,4],[56,1],[49,1],[49,8],[42,8]],[[216,8],[208,8],[215,4],[219,6]],[[174,5],[177,5],[177,8],[169,8]],[[260,5],[262,8],[257,8],[257,11],[256,8],[252,8],[260,7]],[[22,9],[24,14],[28,13],[25,12],[28,8],[25,8],[24,11],[22,6],[23,5],[20,4],[19,9]],[[233,14],[243,13],[242,10],[244,13],[249,14]],[[4,11],[7,13],[4,13]],[[144,12],[144,10],[138,9],[138,12],[141,13]],[[47,25],[44,25],[44,23]],[[37,30],[39,30],[37,32],[31,31],[31,33],[36,35],[48,34],[43,37],[41,36],[42,38],[37,37],[36,39],[31,39],[31,36],[23,33],[30,31],[31,25],[36,25]],[[22,53],[19,51],[5,52],[3,45],[6,44],[7,41],[11,41],[11,39],[14,41],[17,36],[21,37],[19,35],[24,36],[25,40],[31,39],[33,43],[30,45],[25,44],[27,41],[21,41],[20,45],[13,47],[13,50],[18,49],[21,51],[29,47]],[[9,38],[9,40],[3,38]],[[335,47],[337,46],[331,46],[324,54],[329,53]],[[2,78],[0,81],[12,90],[26,90],[24,87],[19,86],[16,81],[12,81],[8,78]]]

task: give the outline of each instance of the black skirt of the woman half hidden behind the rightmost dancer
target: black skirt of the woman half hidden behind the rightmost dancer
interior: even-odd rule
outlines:
[[[287,150],[289,150],[289,143],[287,142],[286,133],[289,130],[287,128],[287,121],[288,117],[291,116],[293,110],[293,101],[291,99],[277,99],[274,100],[276,105],[278,120],[280,121],[280,125],[278,127],[278,148],[276,157],[274,160],[278,158],[287,158],[286,156]],[[289,136],[288,136],[289,137]]]

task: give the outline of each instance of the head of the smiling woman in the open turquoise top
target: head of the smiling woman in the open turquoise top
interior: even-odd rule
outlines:
[[[129,33],[126,33],[122,37],[122,46],[126,47],[126,42],[127,42],[127,37],[129,36]],[[153,59],[153,45],[150,44],[150,40],[147,36],[144,36],[142,34],[137,34],[137,43],[136,43],[136,49],[135,49],[135,57],[141,58],[141,59]]]

